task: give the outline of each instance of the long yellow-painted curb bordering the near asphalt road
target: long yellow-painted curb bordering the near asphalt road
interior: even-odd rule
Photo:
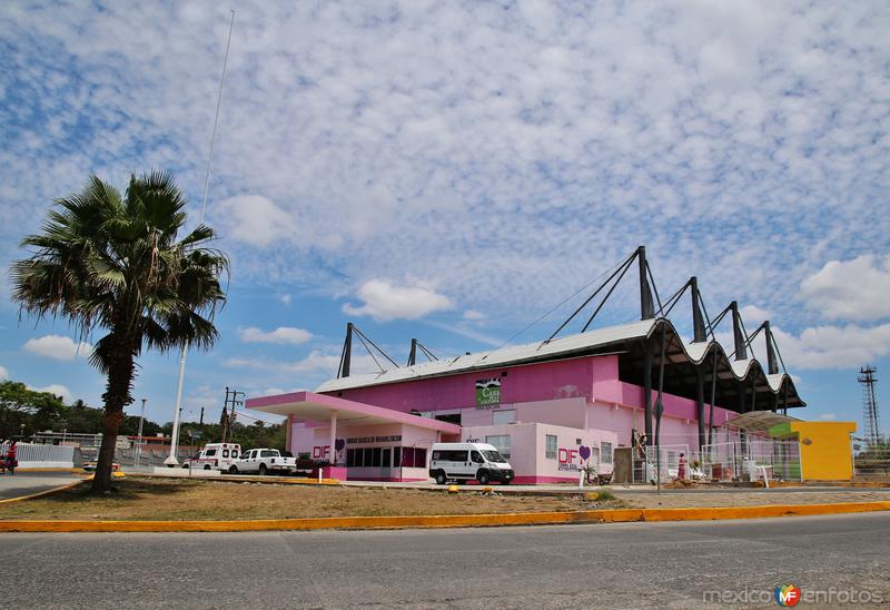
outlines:
[[[631,521],[713,521],[890,511],[890,502],[775,504],[696,509],[615,509],[506,514],[333,516],[245,521],[36,521],[0,520],[0,532],[255,532],[275,530],[375,530],[485,528]]]

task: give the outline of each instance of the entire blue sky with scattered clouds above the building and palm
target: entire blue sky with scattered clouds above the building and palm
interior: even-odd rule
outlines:
[[[91,174],[172,171],[197,223],[230,9],[206,219],[231,277],[186,421],[316,387],[348,321],[397,362],[545,338],[645,245],[662,296],[696,275],[712,315],[771,321],[798,415],[861,422],[859,367],[890,373],[881,1],[3,2],[0,377],[101,404],[98,337],[21,316],[9,264]],[[637,317],[632,279],[597,327]],[[128,412],[170,421],[177,371],[144,356]]]

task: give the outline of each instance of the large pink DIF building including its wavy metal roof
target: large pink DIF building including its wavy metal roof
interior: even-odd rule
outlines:
[[[788,374],[739,346],[730,360],[715,341],[685,344],[666,318],[377,374],[349,375],[349,351],[347,334],[340,375],[315,393],[247,401],[286,415],[290,451],[339,479],[425,480],[441,441],[495,445],[517,483],[575,482],[587,463],[606,474],[615,447],[653,441],[659,387],[660,443],[691,456],[736,413],[804,406]]]

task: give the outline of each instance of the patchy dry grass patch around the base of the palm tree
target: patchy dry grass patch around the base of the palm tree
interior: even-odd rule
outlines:
[[[228,520],[577,511],[619,508],[580,495],[362,489],[128,476],[102,498],[81,488],[0,505],[0,519]]]

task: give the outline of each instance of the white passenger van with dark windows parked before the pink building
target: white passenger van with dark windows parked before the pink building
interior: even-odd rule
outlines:
[[[494,445],[485,443],[435,443],[429,459],[429,476],[444,485],[449,480],[475,479],[483,485],[513,481],[513,466],[504,460]]]

